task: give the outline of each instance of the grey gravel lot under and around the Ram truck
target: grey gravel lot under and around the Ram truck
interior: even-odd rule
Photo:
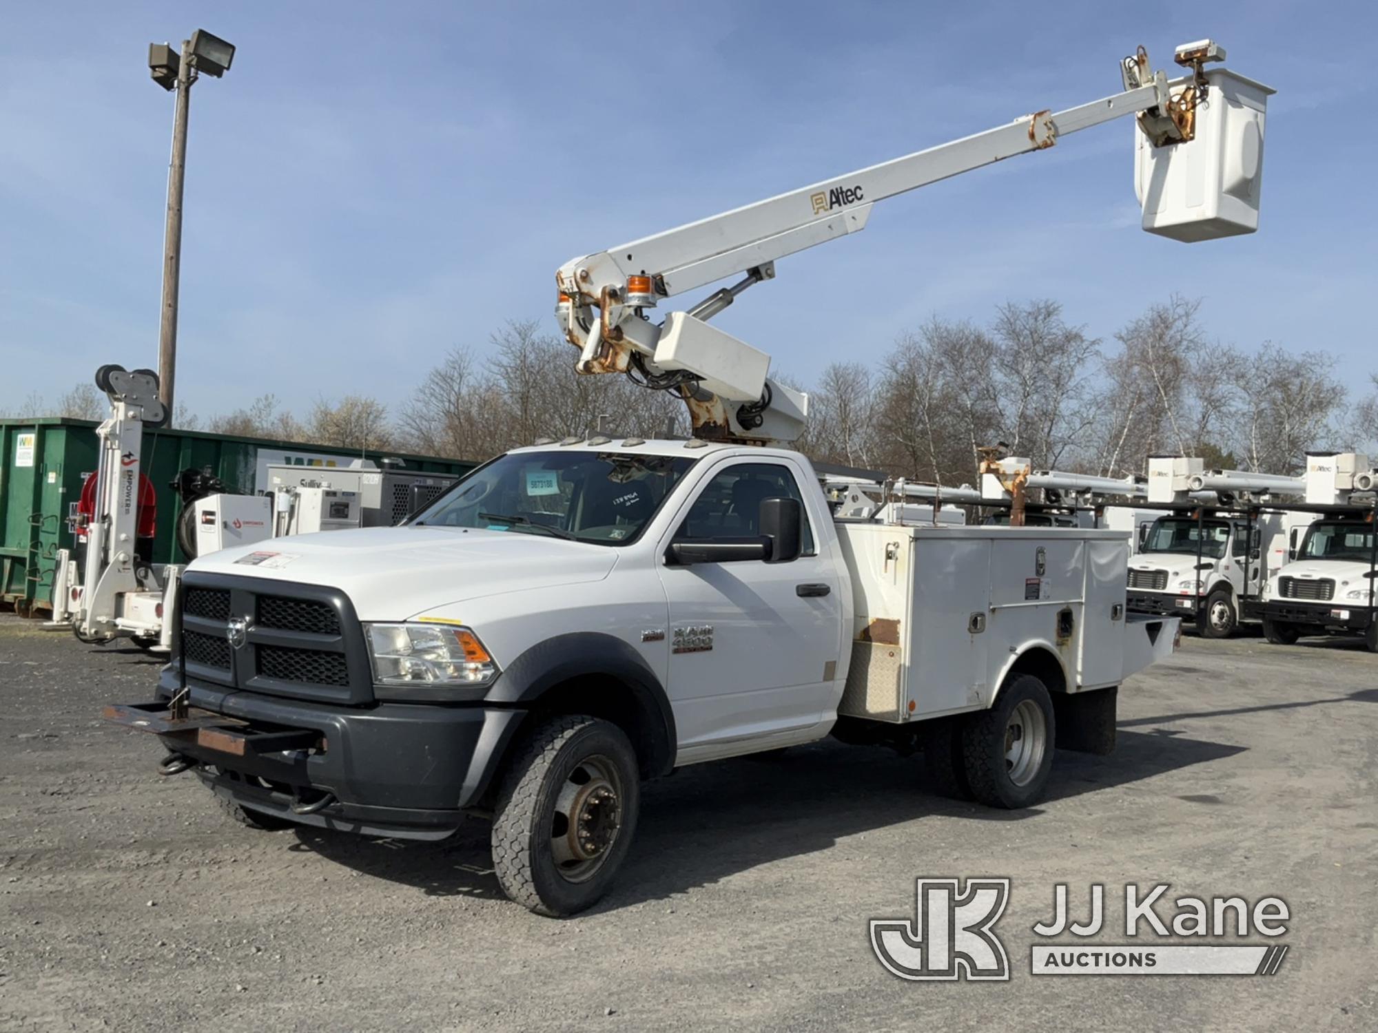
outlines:
[[[99,719],[156,672],[0,617],[0,1029],[1378,1029],[1378,657],[1345,643],[1186,639],[1122,690],[1116,753],[1060,753],[1021,814],[831,742],[681,771],[568,921],[502,898],[480,822],[232,825]],[[912,916],[916,876],[981,875],[1013,879],[1010,982],[881,968],[868,919]],[[1057,881],[1078,912],[1091,881],[1280,895],[1291,950],[1272,978],[1035,978]]]

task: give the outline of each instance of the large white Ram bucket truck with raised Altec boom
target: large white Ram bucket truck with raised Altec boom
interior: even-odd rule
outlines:
[[[886,197],[1120,116],[1151,168],[1209,171],[1167,152],[1240,143],[1192,114],[1232,81],[1203,69],[1215,56],[1185,48],[1169,81],[1140,52],[1109,98],[566,263],[576,369],[671,391],[693,439],[514,449],[404,526],[198,559],[157,698],[107,716],[156,733],[161,771],[194,771],[248,825],[441,839],[491,820],[497,881],[544,915],[606,893],[642,780],[685,764],[832,733],[922,748],[949,792],[1034,803],[1054,745],[1108,751],[1116,687],[1174,646],[1174,618],[1124,610],[1123,536],[834,521],[787,446],[806,395],[707,320]],[[1163,197],[1156,231],[1254,227]]]

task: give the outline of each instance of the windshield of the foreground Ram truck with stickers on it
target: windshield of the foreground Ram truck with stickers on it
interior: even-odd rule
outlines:
[[[637,540],[693,463],[686,456],[514,452],[469,474],[411,526],[626,545]]]

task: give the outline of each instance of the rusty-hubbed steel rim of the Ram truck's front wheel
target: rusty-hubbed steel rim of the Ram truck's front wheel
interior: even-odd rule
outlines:
[[[588,881],[608,861],[621,832],[623,799],[621,775],[608,758],[595,753],[570,769],[550,825],[550,854],[565,881]]]

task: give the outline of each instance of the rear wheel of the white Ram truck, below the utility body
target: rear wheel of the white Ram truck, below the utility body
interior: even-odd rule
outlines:
[[[971,795],[987,807],[1017,810],[1043,796],[1057,741],[1053,700],[1034,675],[1018,675],[995,707],[962,726],[962,760]]]

